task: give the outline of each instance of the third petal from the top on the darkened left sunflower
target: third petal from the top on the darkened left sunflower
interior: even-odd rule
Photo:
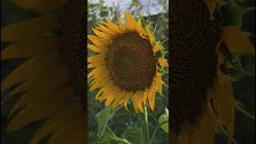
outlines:
[[[47,51],[58,49],[58,38],[35,38],[29,42],[19,42],[1,51],[1,60],[10,58],[27,58]]]

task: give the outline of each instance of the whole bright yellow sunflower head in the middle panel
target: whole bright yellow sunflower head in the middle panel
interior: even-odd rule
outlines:
[[[165,58],[158,57],[158,51],[164,50],[161,42],[156,42],[149,26],[142,28],[142,19],[138,21],[125,13],[126,24],[118,16],[118,25],[110,20],[98,22],[93,28],[95,35],[87,38],[93,43],[88,48],[98,54],[88,58],[88,74],[92,80],[90,91],[98,90],[96,99],[105,106],[115,108],[124,105],[132,98],[134,110],[143,112],[143,104],[148,99],[150,109],[154,110],[154,98],[158,91],[162,94],[162,76],[160,71],[168,66]]]

